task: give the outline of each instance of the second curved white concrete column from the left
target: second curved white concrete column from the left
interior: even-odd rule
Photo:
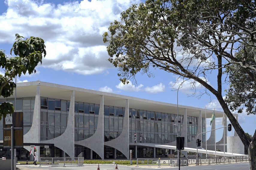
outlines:
[[[71,91],[67,128],[65,132],[53,139],[41,141],[41,143],[54,143],[54,146],[62,149],[70,157],[75,157],[75,91]]]

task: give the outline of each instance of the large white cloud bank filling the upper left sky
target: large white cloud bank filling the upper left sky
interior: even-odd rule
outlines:
[[[35,0],[6,0],[0,16],[0,43],[12,44],[15,33],[41,37],[46,44],[43,67],[89,75],[113,68],[102,34],[110,22],[139,0],[84,0],[55,5]]]

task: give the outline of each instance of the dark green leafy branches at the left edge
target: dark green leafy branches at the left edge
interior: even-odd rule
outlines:
[[[44,41],[41,38],[30,37],[24,40],[24,37],[16,34],[16,41],[10,50],[10,55],[15,57],[7,57],[3,50],[0,50],[0,66],[4,69],[4,76],[0,75],[0,96],[4,98],[13,94],[16,84],[13,82],[15,76],[22,74],[31,74],[36,72],[35,67],[38,63],[42,64],[42,58],[46,55]],[[14,112],[13,104],[3,102],[0,104],[0,120],[2,116]]]

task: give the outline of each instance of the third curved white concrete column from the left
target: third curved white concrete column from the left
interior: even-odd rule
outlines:
[[[104,160],[104,95],[101,96],[96,132],[87,139],[75,141],[75,144],[92,149]]]

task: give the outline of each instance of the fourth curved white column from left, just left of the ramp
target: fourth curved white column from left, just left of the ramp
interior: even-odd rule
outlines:
[[[119,150],[129,159],[129,99],[126,99],[122,133],[116,139],[104,142],[104,145]]]

